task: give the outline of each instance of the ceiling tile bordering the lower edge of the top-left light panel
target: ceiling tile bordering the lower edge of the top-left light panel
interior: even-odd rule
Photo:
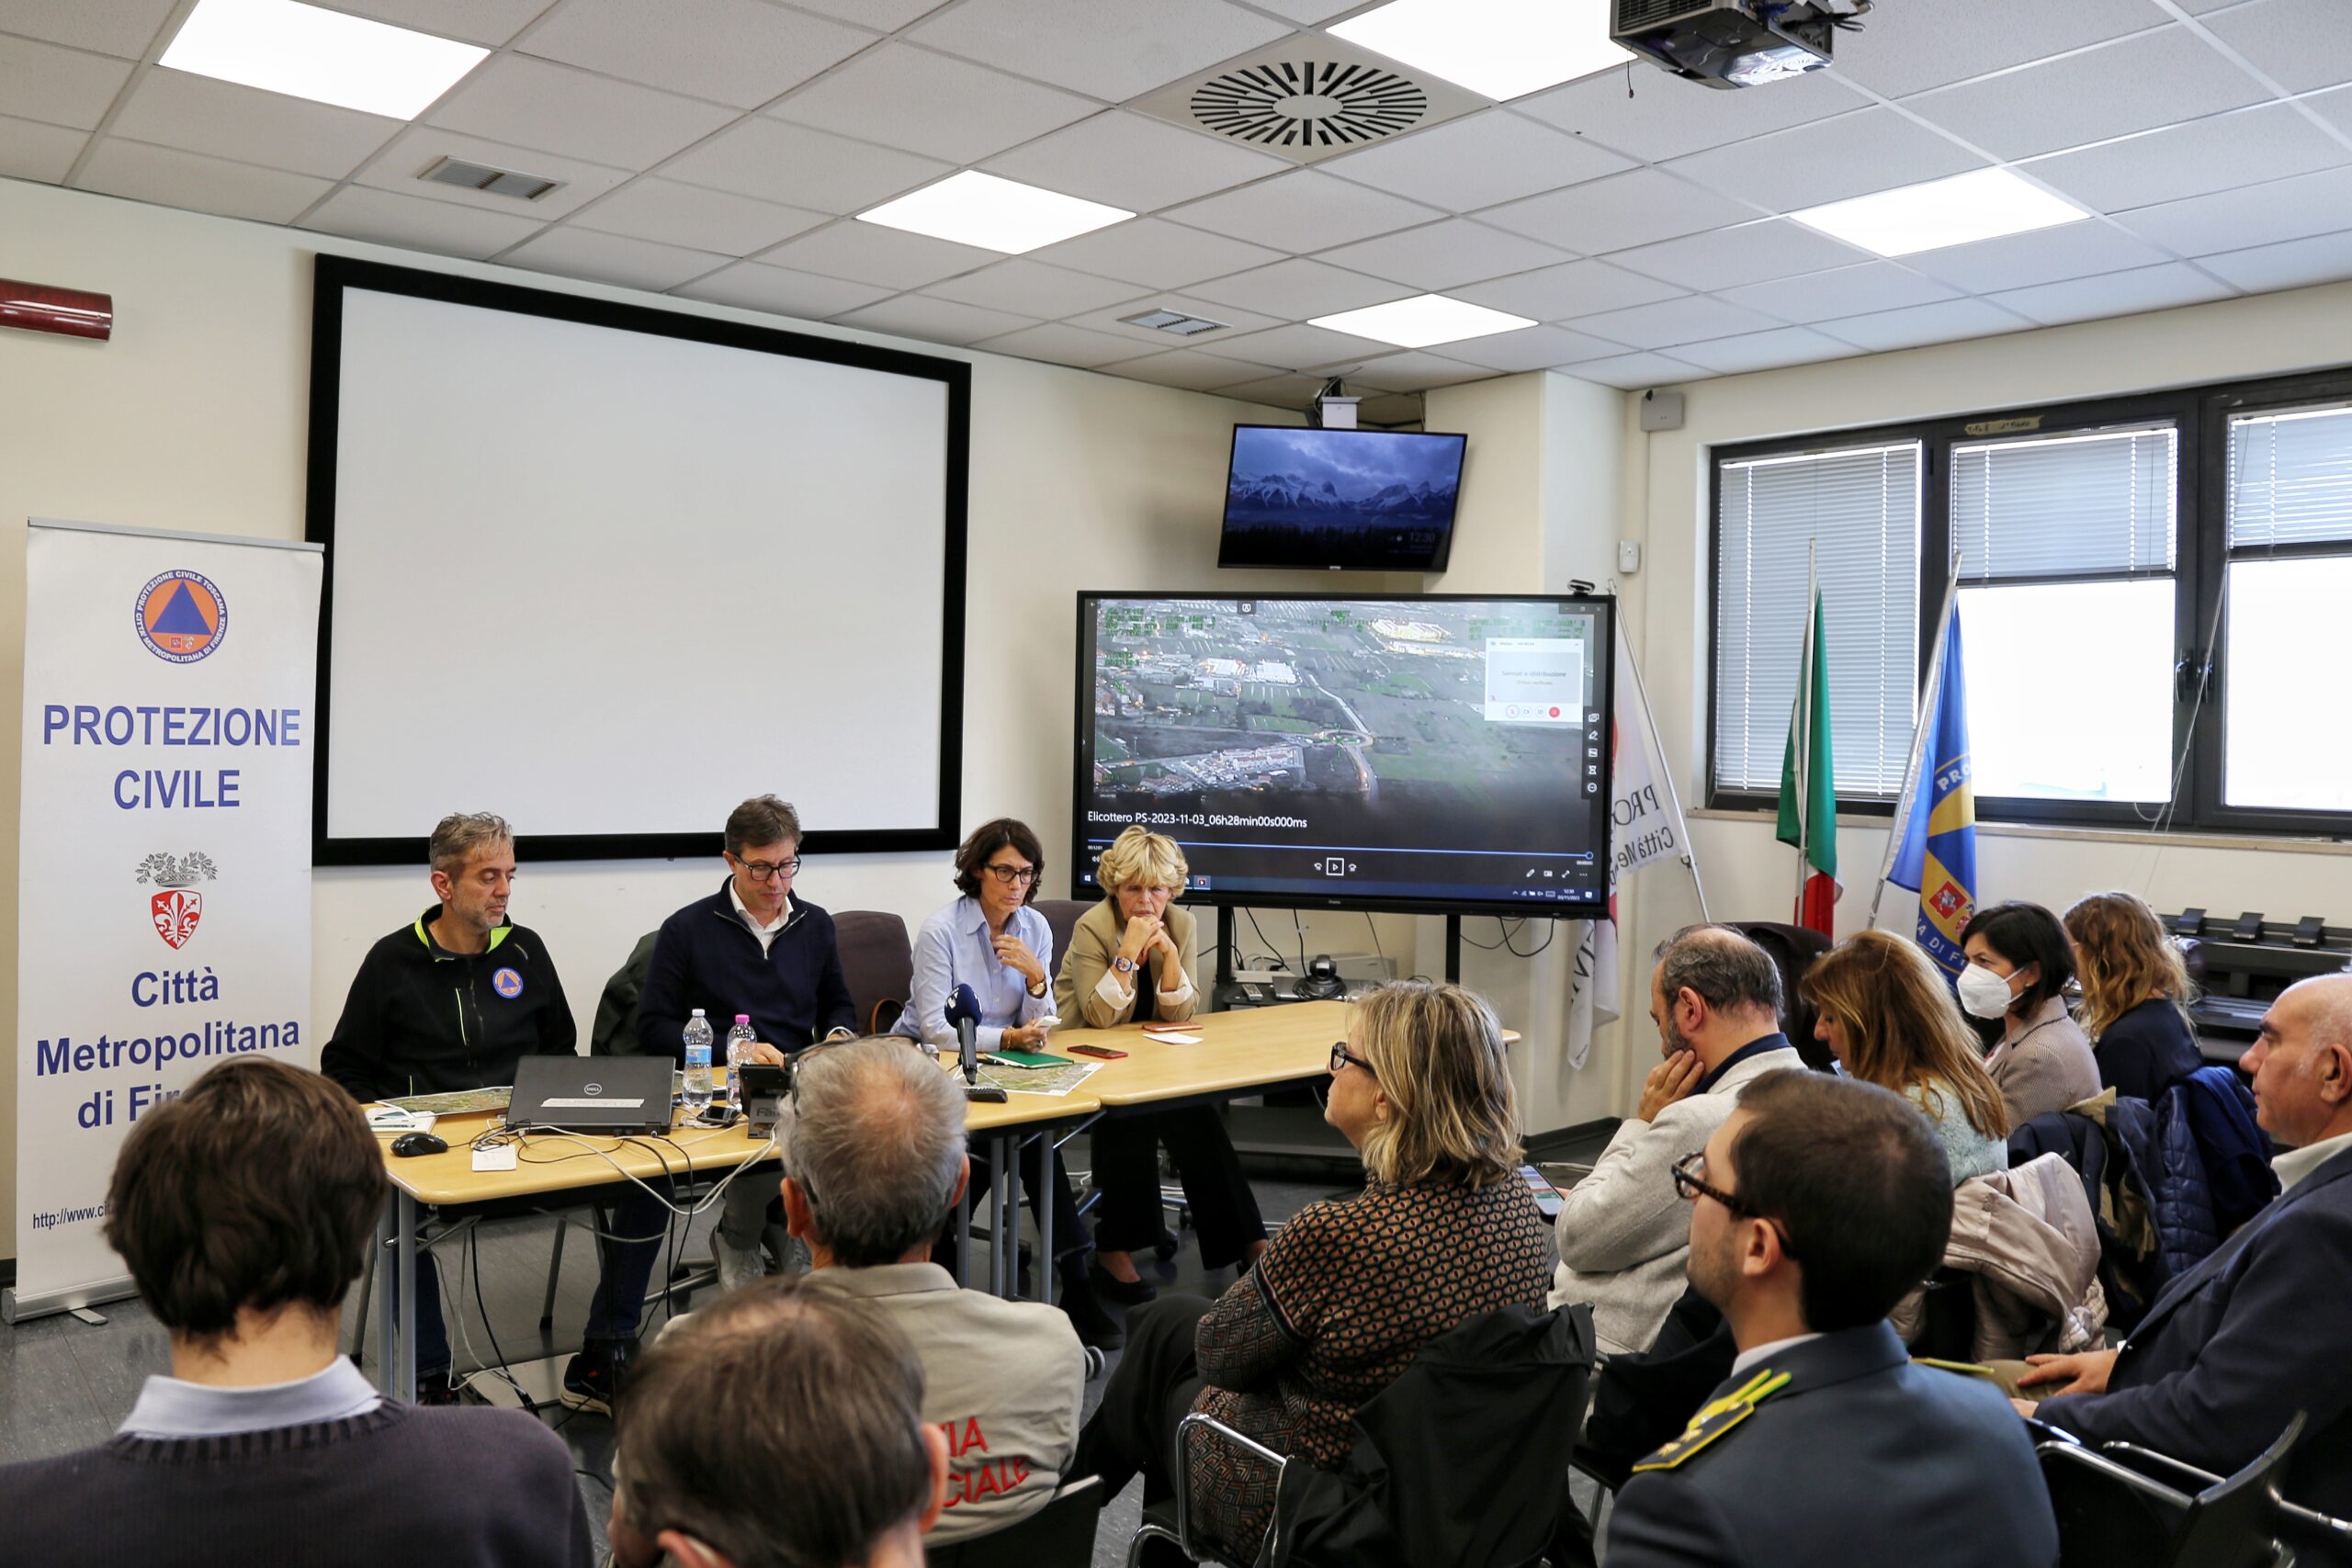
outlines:
[[[132,87],[111,132],[151,146],[341,179],[390,141],[400,120],[158,68]]]

